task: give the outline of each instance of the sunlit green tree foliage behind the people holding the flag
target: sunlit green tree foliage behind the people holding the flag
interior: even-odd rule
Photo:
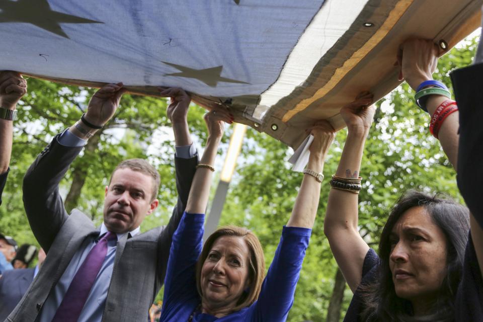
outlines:
[[[452,49],[443,56],[435,79],[450,85],[449,72],[470,64],[475,47],[475,40],[468,41],[463,48]],[[22,178],[53,136],[78,120],[94,91],[33,78],[28,84],[29,94],[19,107],[20,119],[15,123],[11,173],[0,207],[0,231],[14,236],[19,243],[36,244],[23,210]],[[406,189],[441,191],[460,198],[455,172],[437,140],[429,134],[429,116],[415,105],[413,96],[408,85],[402,84],[379,101],[366,142],[361,169],[364,179],[359,197],[359,223],[361,233],[376,250],[387,213]],[[206,138],[203,114],[201,108],[190,109],[189,124],[197,137],[195,142],[204,142]],[[168,134],[154,135],[157,130],[163,133],[167,126],[165,100],[125,95],[113,120],[97,138],[91,139],[91,146],[77,157],[61,182],[62,195],[68,196],[67,208],[79,208],[100,223],[104,187],[114,167],[122,159],[149,158],[161,176],[160,205],[145,219],[141,229],[167,223],[176,202],[174,143]],[[169,133],[169,130],[165,132]],[[230,130],[227,132],[225,138]],[[159,136],[160,139],[155,139]],[[326,160],[326,177],[335,173],[345,137],[345,130],[337,135]],[[222,150],[225,151],[226,147],[226,144],[222,145]],[[302,179],[302,175],[292,172],[286,162],[290,153],[282,143],[250,129],[222,214],[221,224],[246,226],[259,236],[267,267]],[[289,314],[291,322],[324,321],[327,316],[337,272],[323,232],[328,187],[326,179],[295,302]],[[351,291],[346,288],[342,317],[351,296]],[[158,299],[161,299],[160,295]]]

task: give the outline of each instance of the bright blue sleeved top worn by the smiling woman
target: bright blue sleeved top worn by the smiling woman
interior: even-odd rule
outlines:
[[[204,214],[184,213],[173,236],[160,322],[188,321],[201,303],[195,267],[202,250]],[[287,319],[310,239],[311,229],[283,227],[277,251],[257,301],[249,307],[217,318],[195,313],[193,322],[264,321]]]

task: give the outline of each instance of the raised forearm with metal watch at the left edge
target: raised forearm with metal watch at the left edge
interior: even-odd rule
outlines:
[[[0,72],[0,205],[9,174],[12,154],[13,123],[17,103],[27,93],[27,82],[15,71]]]

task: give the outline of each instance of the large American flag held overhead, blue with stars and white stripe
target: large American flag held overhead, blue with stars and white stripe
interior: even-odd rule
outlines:
[[[453,46],[483,0],[0,0],[0,70],[133,92],[182,87],[297,147],[315,119],[398,85],[408,36]]]

